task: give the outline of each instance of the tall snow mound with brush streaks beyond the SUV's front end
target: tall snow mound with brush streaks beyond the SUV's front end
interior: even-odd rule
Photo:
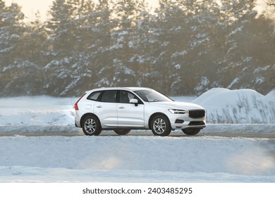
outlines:
[[[273,92],[273,91],[272,91]],[[193,103],[207,110],[207,122],[229,124],[274,124],[275,94],[267,96],[252,89],[211,89]]]

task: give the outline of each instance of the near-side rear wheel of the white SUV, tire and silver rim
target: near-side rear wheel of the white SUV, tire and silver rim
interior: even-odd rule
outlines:
[[[99,120],[94,115],[87,115],[82,122],[82,130],[85,135],[99,135],[102,132],[102,127]]]

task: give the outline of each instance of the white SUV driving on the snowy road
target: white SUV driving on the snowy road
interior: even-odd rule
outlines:
[[[195,135],[205,127],[205,110],[193,103],[173,101],[157,91],[142,87],[100,88],[86,91],[75,103],[75,127],[86,135],[102,129],[128,134],[130,129],[151,129],[167,136],[172,129]]]

